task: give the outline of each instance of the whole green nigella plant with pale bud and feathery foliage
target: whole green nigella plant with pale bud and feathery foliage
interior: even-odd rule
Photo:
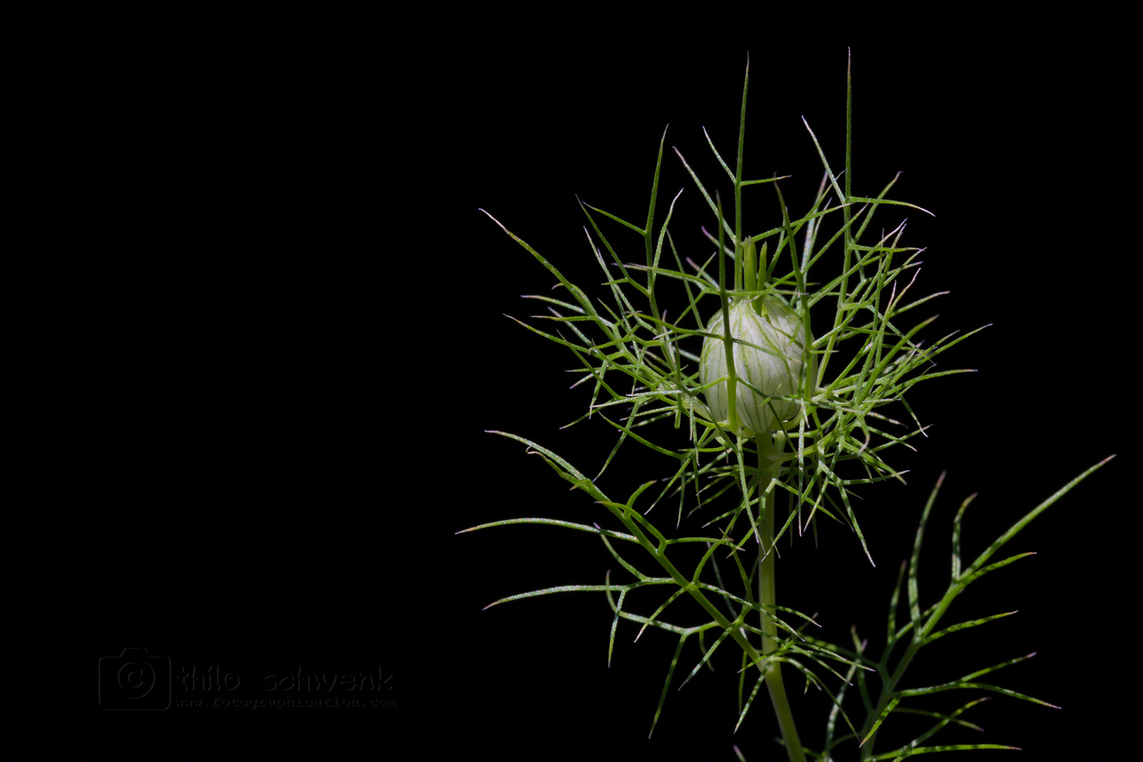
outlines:
[[[658,185],[665,134],[645,220],[634,224],[582,204],[590,247],[610,291],[610,305],[592,299],[550,259],[504,228],[562,287],[562,298],[531,297],[549,305],[551,314],[541,320],[552,328],[521,326],[574,354],[581,382],[592,387],[584,417],[599,416],[614,427],[617,439],[601,458],[599,474],[629,442],[672,459],[674,467],[664,483],[647,481],[625,499],[613,499],[594,479],[551,449],[504,434],[542,455],[560,478],[604,506],[618,526],[610,529],[530,518],[473,529],[541,523],[591,532],[632,579],[613,583],[608,577],[602,585],[538,589],[495,603],[555,592],[602,592],[614,611],[613,647],[621,618],[638,623],[640,634],[648,628],[674,634],[676,657],[652,730],[663,711],[684,647],[694,637],[701,656],[681,682],[689,681],[722,645],[734,643],[743,667],[738,722],[744,721],[765,683],[792,760],[807,759],[807,752],[786,698],[782,665],[833,700],[824,740],[813,753],[818,759],[833,759],[834,749],[850,740],[858,741],[863,760],[903,759],[951,748],[921,745],[948,723],[962,722],[959,715],[972,704],[952,714],[938,714],[933,731],[922,733],[912,745],[893,752],[873,751],[886,719],[910,708],[908,704],[914,697],[953,688],[1001,690],[976,682],[998,667],[927,689],[902,689],[900,683],[922,647],[997,618],[937,628],[949,604],[972,581],[1022,558],[990,563],[996,552],[1102,463],[1031,511],[964,568],[959,555],[962,507],[954,523],[949,588],[936,603],[922,609],[917,569],[934,490],[917,534],[912,561],[902,569],[902,580],[909,580],[909,621],[901,627],[895,621],[898,584],[890,605],[886,649],[879,659],[866,655],[856,635],[850,648],[805,633],[813,618],[778,603],[776,543],[783,537],[817,531],[818,520],[824,519],[848,526],[869,555],[853,490],[861,484],[900,479],[887,454],[898,446],[911,447],[911,440],[924,432],[906,394],[920,382],[964,372],[936,371],[932,363],[972,334],[944,336],[928,345],[920,342],[919,334],[932,318],[913,320],[913,311],[932,296],[913,298],[910,294],[919,250],[902,244],[903,226],[888,232],[872,226],[882,208],[917,207],[888,198],[895,181],[876,196],[853,192],[849,104],[844,171],[833,170],[810,130],[824,178],[810,208],[792,217],[780,190],[778,181],[784,178],[743,179],[748,93],[749,65],[733,167],[708,138],[733,185],[729,215],[724,212],[720,195],[710,192],[679,154],[716,220],[717,232],[709,234],[714,249],[705,259],[692,263],[688,252],[677,249],[669,232],[679,196],[656,219],[656,212],[662,214]],[[774,190],[775,223],[749,234],[744,228],[743,190],[766,184]],[[616,233],[605,233],[608,224],[618,226]],[[639,262],[620,255],[626,248],[620,238],[624,235],[631,243],[641,239]],[[669,320],[668,312],[679,314]],[[905,425],[889,417],[890,406],[903,410],[911,423]],[[687,446],[677,447],[673,440],[660,436],[663,423],[685,432]],[[676,506],[676,528],[685,520],[698,520],[710,531],[668,537],[663,522],[649,518],[660,505]],[[681,566],[680,558],[686,554],[678,550],[685,545],[703,548],[693,567]],[[653,573],[646,571],[648,563],[656,567]],[[642,588],[665,592],[657,608],[636,612],[629,595]],[[697,603],[709,620],[698,626],[672,624],[670,609],[682,599]],[[754,674],[752,680],[746,680],[748,672]],[[880,690],[871,692],[874,679],[880,680]],[[852,709],[846,708],[845,699],[855,693],[865,711],[864,722],[855,721]]]

